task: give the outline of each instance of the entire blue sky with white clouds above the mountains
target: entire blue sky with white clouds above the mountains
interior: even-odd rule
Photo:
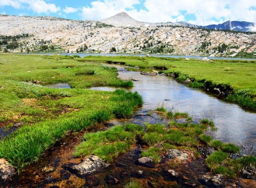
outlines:
[[[0,0],[0,14],[101,20],[119,12],[145,22],[256,23],[256,0]]]

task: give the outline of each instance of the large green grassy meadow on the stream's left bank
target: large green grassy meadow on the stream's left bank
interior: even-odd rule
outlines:
[[[3,60],[4,59],[4,60]],[[70,56],[0,55],[0,124],[22,122],[0,141],[0,158],[21,170],[69,132],[78,132],[113,117],[129,117],[142,106],[137,93],[91,91],[93,85],[131,86],[117,70],[78,62]],[[72,89],[34,83],[69,83]],[[109,150],[126,150],[124,141]],[[98,150],[98,153],[101,151]]]

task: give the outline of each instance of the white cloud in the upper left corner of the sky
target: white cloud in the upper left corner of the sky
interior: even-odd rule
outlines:
[[[60,8],[53,3],[46,3],[44,0],[1,0],[0,6],[12,6],[20,9],[22,6],[31,9],[34,12],[40,13],[56,13]]]

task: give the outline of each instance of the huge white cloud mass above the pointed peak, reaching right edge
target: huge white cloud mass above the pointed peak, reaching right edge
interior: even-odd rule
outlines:
[[[143,9],[135,5],[143,3]],[[82,18],[101,20],[126,11],[145,22],[188,21],[198,25],[227,20],[256,22],[256,0],[95,0],[83,7]],[[193,15],[193,18],[190,16]]]

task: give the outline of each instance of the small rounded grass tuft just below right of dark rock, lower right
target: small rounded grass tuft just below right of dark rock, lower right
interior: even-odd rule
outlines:
[[[216,167],[216,165],[222,163],[227,158],[229,158],[229,155],[227,153],[219,151],[219,152],[213,152],[211,155],[209,155],[206,158],[205,161],[207,166],[213,169]]]

